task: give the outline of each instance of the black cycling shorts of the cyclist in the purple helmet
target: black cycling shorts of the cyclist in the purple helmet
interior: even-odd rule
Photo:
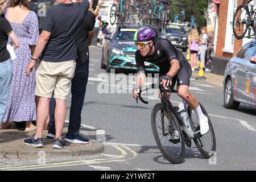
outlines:
[[[159,85],[161,80],[163,79],[163,77],[167,74],[168,72],[159,72]],[[192,75],[192,70],[191,70],[191,66],[189,63],[184,64],[179,71],[177,72],[177,74],[172,77],[172,87],[175,86],[176,81],[177,81],[177,86],[180,85],[188,85],[190,84],[190,78]]]

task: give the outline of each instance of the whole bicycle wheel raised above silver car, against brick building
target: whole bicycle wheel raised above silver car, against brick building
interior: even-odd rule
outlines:
[[[247,6],[240,5],[233,16],[233,32],[237,39],[242,39],[245,36],[250,24],[250,12]]]

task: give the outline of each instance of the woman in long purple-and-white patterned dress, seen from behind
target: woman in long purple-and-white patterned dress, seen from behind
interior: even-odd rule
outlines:
[[[36,128],[32,124],[36,120],[35,70],[30,77],[24,73],[39,37],[38,18],[30,11],[27,0],[12,0],[6,11],[6,18],[19,40],[20,47],[15,50],[17,58],[13,61],[13,81],[4,122],[26,121],[25,131],[33,131]]]

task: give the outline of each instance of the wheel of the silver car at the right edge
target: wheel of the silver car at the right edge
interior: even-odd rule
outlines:
[[[232,89],[232,81],[231,78],[228,78],[228,80],[225,83],[225,89],[224,89],[224,107],[228,109],[237,109],[240,105],[240,102],[234,101],[234,93]]]

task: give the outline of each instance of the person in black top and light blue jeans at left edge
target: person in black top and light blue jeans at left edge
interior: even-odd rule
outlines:
[[[9,7],[9,1],[0,0],[0,14],[4,14],[7,7]],[[12,60],[6,48],[8,36],[13,42],[13,48],[18,48],[19,41],[14,34],[13,28],[11,28],[8,20],[0,17],[0,125],[5,117],[11,80],[13,78]]]

